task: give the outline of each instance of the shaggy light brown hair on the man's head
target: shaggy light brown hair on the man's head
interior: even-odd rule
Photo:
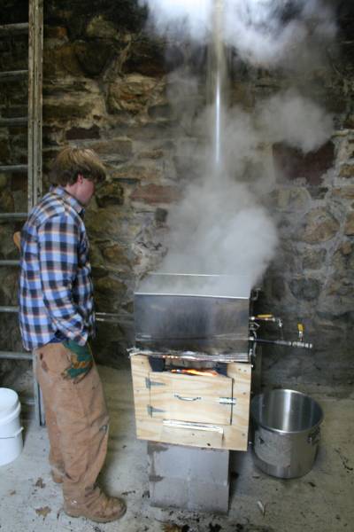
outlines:
[[[98,155],[89,149],[66,147],[58,153],[50,170],[51,184],[76,183],[81,174],[94,183],[105,179],[105,168]]]

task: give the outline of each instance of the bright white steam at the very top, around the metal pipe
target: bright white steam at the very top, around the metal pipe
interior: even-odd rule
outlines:
[[[182,34],[197,43],[212,31],[215,0],[139,0],[160,34]],[[336,33],[326,0],[222,0],[225,43],[256,66],[303,67],[319,59]],[[295,61],[296,59],[296,61]]]

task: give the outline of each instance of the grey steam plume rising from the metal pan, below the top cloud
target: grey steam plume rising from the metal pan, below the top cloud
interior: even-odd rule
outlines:
[[[331,118],[295,90],[269,98],[253,114],[235,107],[228,113],[218,179],[207,153],[194,146],[200,177],[169,213],[169,252],[160,270],[235,275],[227,280],[228,289],[247,292],[260,280],[278,241],[273,220],[258,204],[274,184],[273,165],[266,164],[259,146],[281,141],[308,153],[323,144],[332,127]]]

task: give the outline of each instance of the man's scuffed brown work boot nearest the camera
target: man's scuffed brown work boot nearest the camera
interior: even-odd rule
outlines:
[[[96,523],[108,523],[122,517],[127,506],[118,497],[107,497],[101,492],[100,496],[91,505],[81,505],[75,499],[64,502],[64,512],[70,517],[86,517]]]

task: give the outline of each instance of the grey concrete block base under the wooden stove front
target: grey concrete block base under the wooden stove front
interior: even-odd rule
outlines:
[[[150,504],[227,512],[229,451],[148,442]]]

